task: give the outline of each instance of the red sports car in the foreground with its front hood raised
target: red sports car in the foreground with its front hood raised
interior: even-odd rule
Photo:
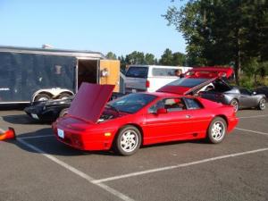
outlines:
[[[207,138],[220,143],[238,123],[230,105],[195,96],[134,93],[107,103],[113,86],[83,83],[69,114],[53,124],[56,138],[81,150],[132,155],[141,145]]]

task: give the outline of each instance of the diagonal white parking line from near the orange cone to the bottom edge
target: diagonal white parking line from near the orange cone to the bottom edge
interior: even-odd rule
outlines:
[[[80,172],[80,170],[72,167],[71,165],[64,163],[63,161],[57,159],[56,157],[54,157],[53,155],[48,155],[46,154],[46,152],[44,152],[43,150],[39,149],[38,147],[32,146],[29,143],[27,143],[26,141],[24,141],[22,138],[17,138],[17,140],[24,146],[31,148],[32,150],[38,152],[41,155],[44,155],[46,158],[50,159],[51,161],[53,161],[54,163],[57,163],[61,166],[63,166],[65,169],[79,175],[81,178],[88,180],[89,183],[98,186],[99,188],[103,188],[105,189],[105,191],[113,194],[113,196],[121,198],[121,200],[125,200],[125,201],[133,201],[132,198],[122,194],[121,192],[119,192],[116,189],[110,188],[107,185],[103,184],[103,183],[93,183],[92,181],[94,180],[92,177],[88,176],[88,174],[84,173],[84,172]]]

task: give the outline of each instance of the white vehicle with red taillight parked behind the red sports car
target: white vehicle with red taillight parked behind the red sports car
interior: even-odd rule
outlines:
[[[165,84],[179,79],[175,75],[175,71],[178,69],[184,73],[192,68],[164,65],[130,65],[126,72],[125,92],[154,92]]]

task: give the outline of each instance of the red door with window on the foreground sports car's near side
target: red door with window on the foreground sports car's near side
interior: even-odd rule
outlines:
[[[157,113],[162,108],[166,113]],[[183,138],[190,130],[188,110],[180,97],[163,98],[151,106],[146,114],[143,130],[145,144],[172,141]]]

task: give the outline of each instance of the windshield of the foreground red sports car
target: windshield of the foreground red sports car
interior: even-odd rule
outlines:
[[[123,113],[136,113],[145,105],[155,100],[156,96],[149,94],[130,94],[109,102],[117,111]]]

